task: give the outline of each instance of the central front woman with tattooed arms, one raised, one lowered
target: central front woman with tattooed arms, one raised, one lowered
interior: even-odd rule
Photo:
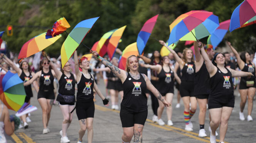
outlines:
[[[120,118],[123,127],[122,143],[130,143],[134,135],[134,143],[142,143],[142,131],[147,119],[147,96],[146,89],[163,102],[166,107],[170,104],[162,97],[160,92],[151,84],[148,77],[138,72],[138,58],[131,55],[126,61],[126,71],[119,69],[106,59],[97,57],[106,67],[121,79],[124,88],[124,96],[121,102]]]

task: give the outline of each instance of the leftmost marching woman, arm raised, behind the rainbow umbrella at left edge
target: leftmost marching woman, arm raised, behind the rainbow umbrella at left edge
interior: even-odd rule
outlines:
[[[1,56],[3,58],[3,61],[8,63],[10,65],[10,67],[12,67],[12,69],[14,69],[17,72],[18,76],[20,77],[20,79],[22,81],[27,82],[27,81],[29,81],[29,79],[31,79],[32,77],[35,76],[35,73],[31,71],[31,69],[29,67],[29,63],[27,61],[22,61],[20,63],[20,68],[19,68],[5,54],[1,54]],[[35,91],[38,92],[39,89],[38,89],[37,81],[33,82],[33,86],[35,88]],[[30,98],[33,97],[31,85],[25,86],[24,89],[25,89],[25,93],[26,93],[25,102],[30,104]],[[21,119],[24,123],[24,128],[28,128],[29,125],[27,124],[27,122],[31,122],[28,114],[22,115]]]

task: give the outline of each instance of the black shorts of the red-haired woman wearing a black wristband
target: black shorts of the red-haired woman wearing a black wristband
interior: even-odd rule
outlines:
[[[76,115],[78,120],[94,117],[94,102],[89,100],[86,102],[76,101]]]

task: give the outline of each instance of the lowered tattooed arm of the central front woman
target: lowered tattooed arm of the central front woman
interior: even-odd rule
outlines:
[[[150,90],[150,91],[155,95],[155,97],[157,97],[158,100],[162,101],[163,104],[165,105],[165,107],[171,106],[171,104],[168,103],[168,102],[163,98],[163,96],[160,94],[160,92],[153,86],[153,84],[150,82],[150,80],[148,79],[148,77],[147,77],[145,74],[142,74],[142,75],[143,75],[143,78],[144,78],[145,81],[146,81],[147,89]]]

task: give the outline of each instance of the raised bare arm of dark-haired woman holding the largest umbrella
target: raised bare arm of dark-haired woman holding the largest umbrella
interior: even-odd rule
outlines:
[[[209,72],[210,77],[212,77],[212,76],[214,76],[214,74],[216,74],[217,67],[212,64],[212,61],[209,59],[208,55],[206,54],[204,47],[201,45],[202,45],[202,43],[199,44],[199,47],[201,47],[200,50],[201,50],[202,57],[205,61],[207,71]]]

